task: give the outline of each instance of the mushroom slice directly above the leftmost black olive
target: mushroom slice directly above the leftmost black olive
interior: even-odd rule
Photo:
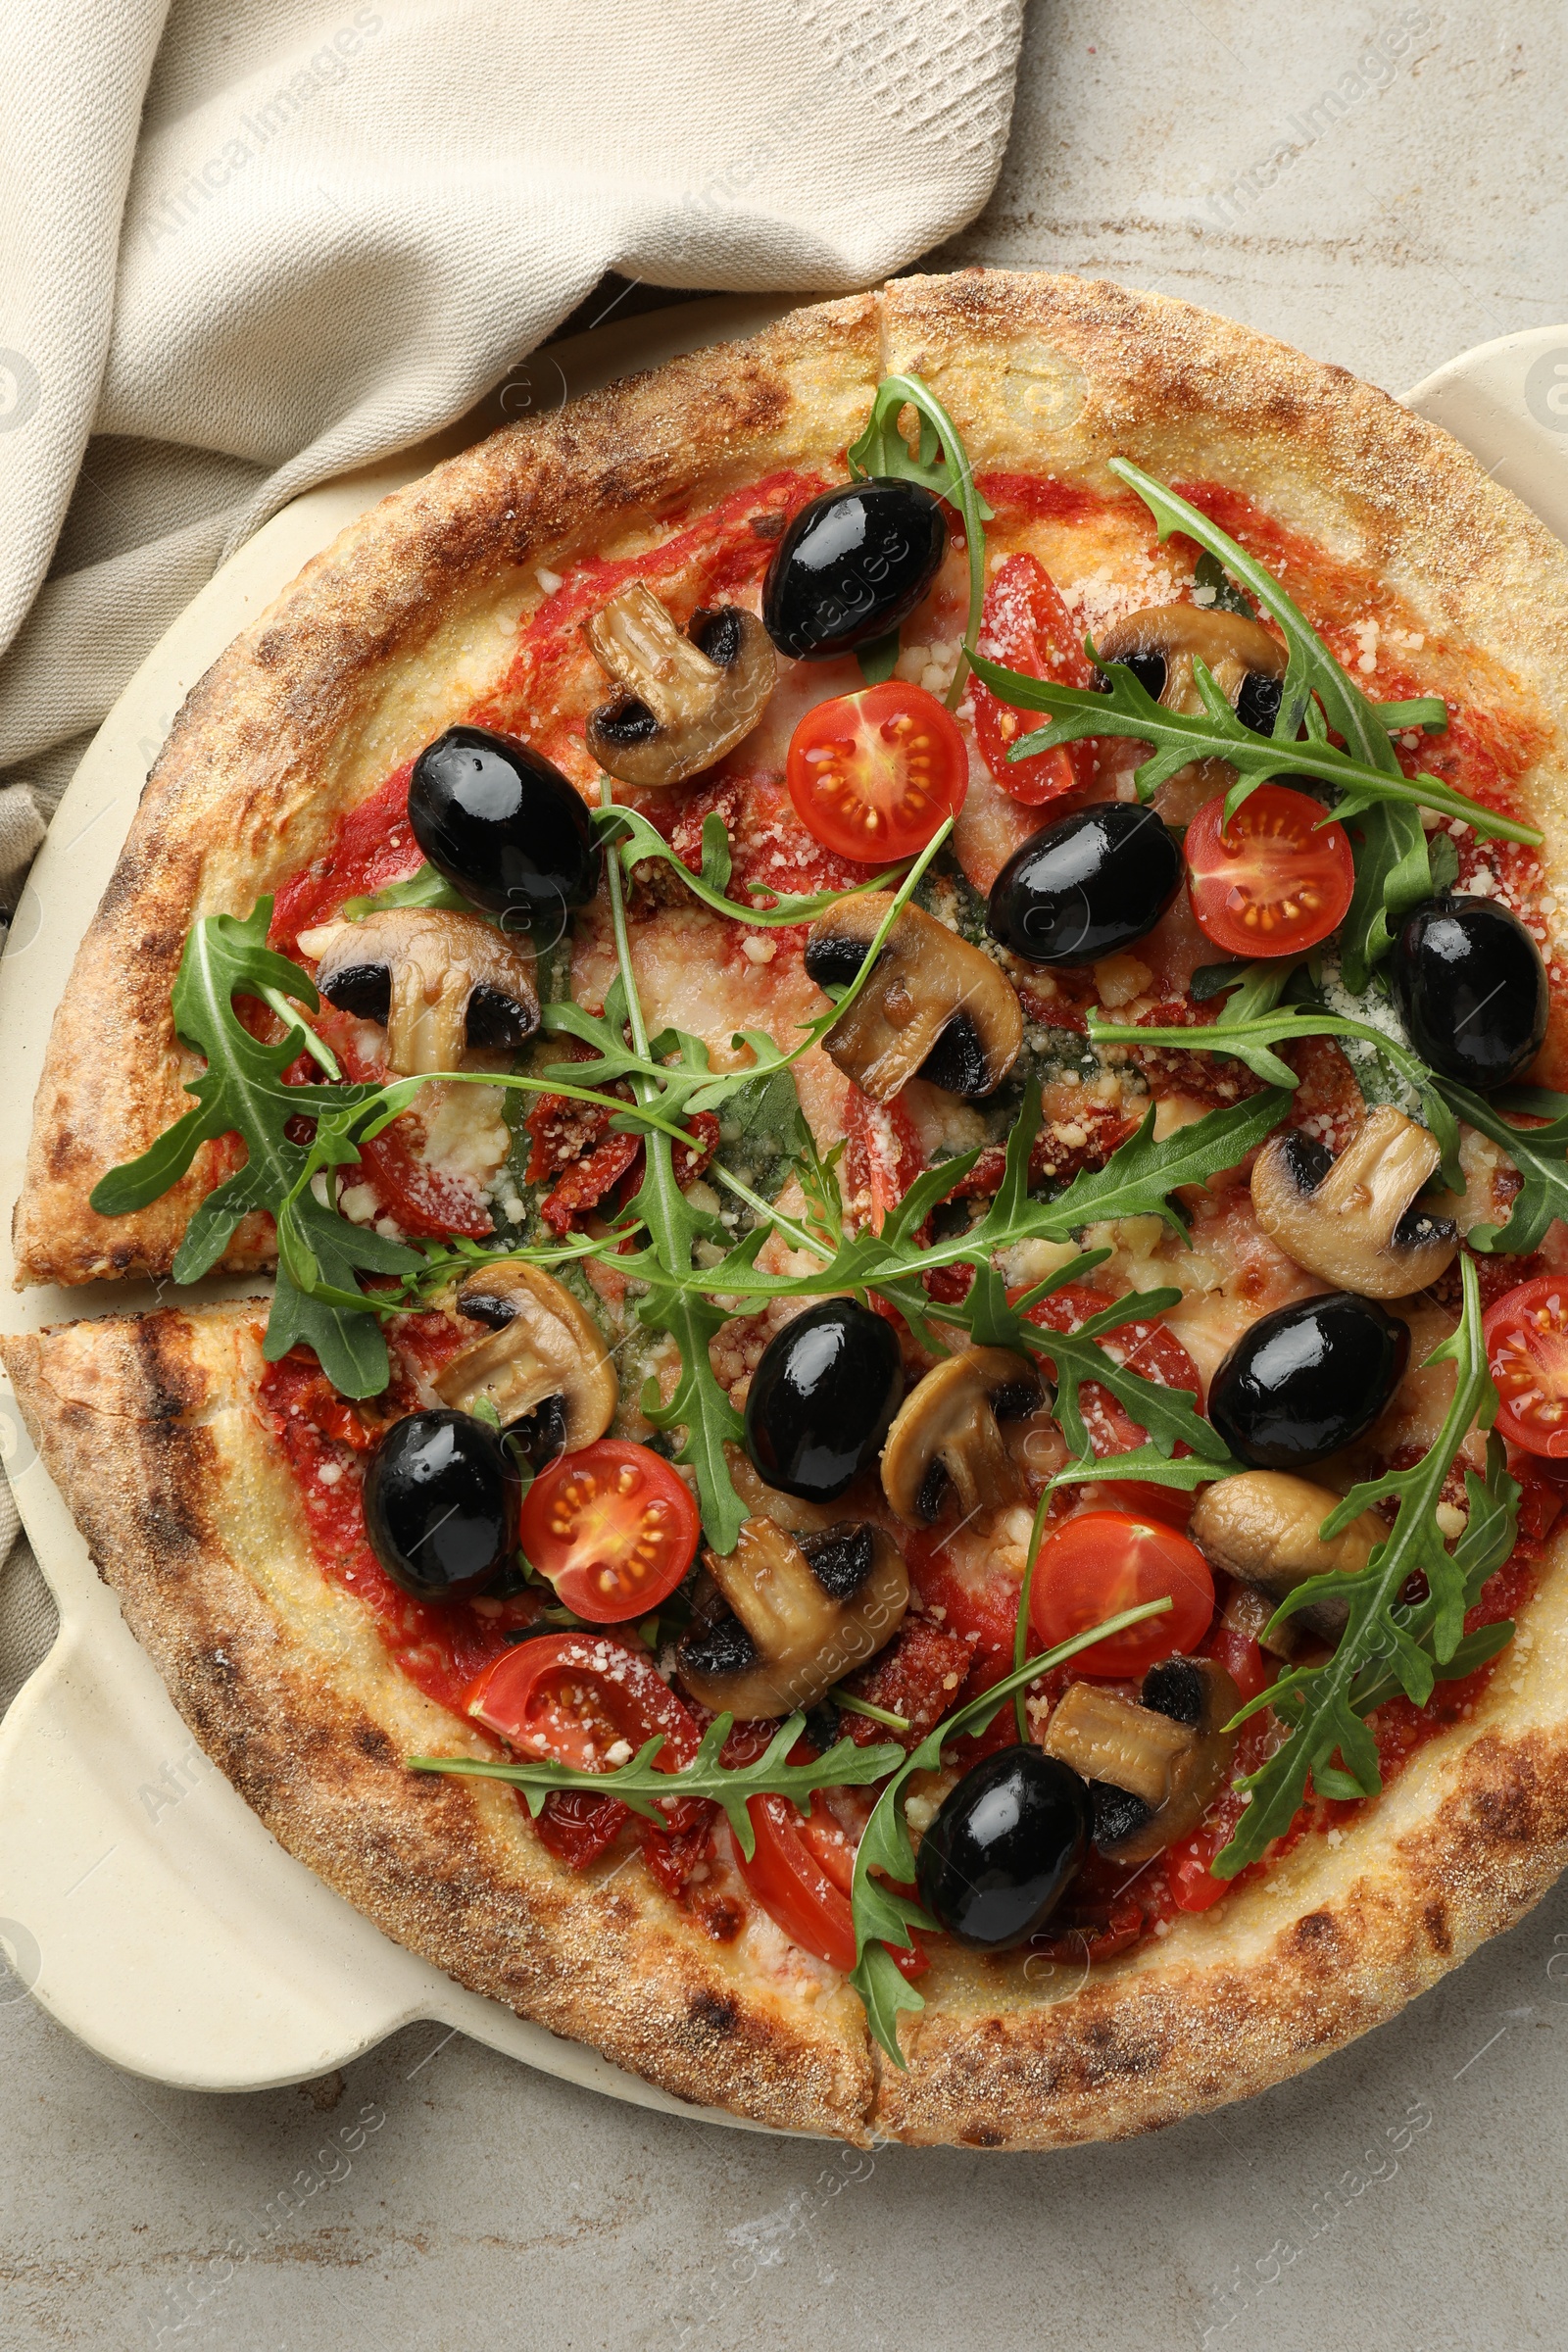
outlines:
[[[595,1319],[538,1265],[503,1258],[468,1275],[458,1315],[487,1324],[484,1338],[437,1371],[442,1404],[473,1414],[484,1399],[501,1425],[536,1416],[538,1451],[571,1454],[602,1437],[621,1383]]]

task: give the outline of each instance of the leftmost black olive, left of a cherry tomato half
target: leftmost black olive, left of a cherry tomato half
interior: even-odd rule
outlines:
[[[489,1423],[447,1409],[409,1414],[364,1472],[369,1548],[416,1599],[473,1599],[517,1550],[517,1486]]]

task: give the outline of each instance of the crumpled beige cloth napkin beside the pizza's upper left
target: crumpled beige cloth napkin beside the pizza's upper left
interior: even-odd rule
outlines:
[[[87,736],[247,532],[463,416],[604,270],[813,292],[907,266],[992,188],[1020,19],[1023,0],[0,9],[0,910]],[[0,1705],[33,1663],[7,1635],[26,1576],[19,1545]]]

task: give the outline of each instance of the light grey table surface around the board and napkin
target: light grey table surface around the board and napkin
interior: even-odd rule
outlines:
[[[936,259],[1182,294],[1401,390],[1568,310],[1563,47],[1523,0],[1037,5],[1001,183]],[[1246,2107],[860,2157],[437,2027],[306,2089],[165,2091],[0,1976],[0,2345],[1559,2347],[1566,2027],[1568,1886]]]

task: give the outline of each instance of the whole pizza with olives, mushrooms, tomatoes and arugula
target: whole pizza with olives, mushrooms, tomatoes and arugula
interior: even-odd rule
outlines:
[[[176,1289],[2,1350],[282,1846],[846,2140],[1154,2129],[1519,1919],[1566,666],[1443,433],[1072,278],[350,524],[181,710],[38,1091],[21,1279]]]

